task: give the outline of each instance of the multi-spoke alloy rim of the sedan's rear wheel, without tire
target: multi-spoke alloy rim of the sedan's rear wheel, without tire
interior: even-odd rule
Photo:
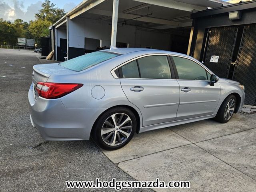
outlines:
[[[132,132],[132,120],[124,113],[115,113],[107,118],[101,128],[102,140],[117,146],[124,143]]]

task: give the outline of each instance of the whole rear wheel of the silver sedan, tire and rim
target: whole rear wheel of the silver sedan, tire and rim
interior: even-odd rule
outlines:
[[[136,127],[136,117],[130,109],[112,108],[98,118],[93,128],[92,138],[99,147],[105,150],[116,150],[130,142]]]

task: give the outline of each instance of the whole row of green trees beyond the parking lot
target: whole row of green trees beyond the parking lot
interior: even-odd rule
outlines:
[[[40,46],[40,38],[49,35],[49,26],[58,21],[66,12],[55,7],[50,0],[42,3],[42,9],[35,14],[34,21],[16,19],[13,23],[0,18],[0,44],[16,45],[17,38],[35,39]]]

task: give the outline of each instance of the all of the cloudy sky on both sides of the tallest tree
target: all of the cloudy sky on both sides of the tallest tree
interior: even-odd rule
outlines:
[[[35,13],[41,9],[44,0],[0,0],[0,18],[14,21],[19,18],[28,22],[35,19]],[[58,8],[66,12],[78,5],[82,0],[51,0]]]

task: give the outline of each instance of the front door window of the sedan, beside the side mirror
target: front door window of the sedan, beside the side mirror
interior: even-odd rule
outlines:
[[[207,74],[206,70],[196,62],[182,57],[172,56],[172,58],[177,68],[179,79],[208,80],[210,73]]]

